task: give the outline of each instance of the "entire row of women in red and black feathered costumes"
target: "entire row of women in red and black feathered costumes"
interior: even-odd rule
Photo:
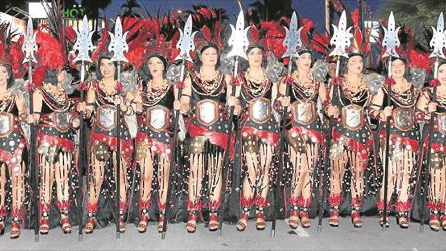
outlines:
[[[407,228],[422,219],[424,203],[430,228],[446,229],[446,61],[438,61],[433,97],[425,82],[433,79],[434,62],[405,28],[399,36],[406,43],[397,47],[399,57],[389,57],[384,81],[388,61],[383,76],[366,69],[371,45],[355,12],[348,18],[354,33],[348,57],[329,57],[329,37],[300,19],[298,57],[282,60],[282,25],[290,22],[283,18],[250,24],[246,59],[234,66],[225,23],[214,9],[198,9],[184,80],[175,60],[182,32],[175,27],[185,20],[173,14],[123,18],[128,63],[113,60],[112,33],[102,32],[85,81],[73,62],[76,33],[60,17],[37,27],[33,64],[22,64],[23,38],[0,25],[0,231],[17,238],[34,226],[33,217],[40,234],[56,226],[70,233],[80,222],[92,233],[117,218],[119,232],[130,223],[145,232],[150,220],[159,232],[165,220],[183,221],[191,233],[203,221],[217,230],[221,220],[243,231],[252,218],[263,230],[276,217],[295,229],[310,227],[321,207],[331,226],[348,214],[361,227],[361,213],[376,210],[381,225],[391,212]],[[316,52],[325,60],[316,62]],[[83,126],[85,136],[78,132]],[[38,191],[31,186],[32,147]],[[38,215],[31,209],[36,198]]]

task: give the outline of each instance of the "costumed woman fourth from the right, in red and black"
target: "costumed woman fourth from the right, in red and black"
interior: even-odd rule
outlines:
[[[321,144],[323,141],[322,124],[317,113],[317,102],[325,102],[324,83],[312,74],[312,51],[301,49],[299,58],[293,63],[294,70],[290,78],[283,78],[279,85],[276,102],[277,110],[288,109],[286,152],[290,160],[291,213],[288,220],[291,228],[310,227],[308,216],[312,201],[313,177],[318,168]],[[290,96],[285,97],[286,85],[291,85]]]

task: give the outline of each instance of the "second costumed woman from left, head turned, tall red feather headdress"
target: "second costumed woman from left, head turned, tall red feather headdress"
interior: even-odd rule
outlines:
[[[62,231],[71,232],[69,211],[71,202],[75,201],[78,179],[78,170],[73,158],[74,135],[79,127],[79,118],[74,113],[73,104],[62,86],[67,77],[66,71],[63,70],[67,59],[63,53],[63,42],[59,38],[61,37],[45,30],[39,30],[36,36],[39,68],[33,75],[37,87],[33,92],[32,119],[39,126],[36,147],[40,171],[41,234],[48,234],[50,228],[49,213],[53,191],[56,193]]]

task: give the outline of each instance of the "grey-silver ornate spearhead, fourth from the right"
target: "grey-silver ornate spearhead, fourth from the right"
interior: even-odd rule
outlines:
[[[286,36],[283,40],[283,46],[286,47],[286,52],[282,55],[282,58],[298,58],[298,50],[302,47],[301,31],[304,27],[298,29],[298,16],[296,15],[296,12],[293,12],[291,16],[289,29],[285,26],[283,26],[283,28],[285,28],[286,31]]]

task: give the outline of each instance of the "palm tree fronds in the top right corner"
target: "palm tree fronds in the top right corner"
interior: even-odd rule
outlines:
[[[441,11],[446,11],[446,1],[444,0],[386,0],[380,9],[380,15],[387,17],[393,11],[395,20],[400,25],[405,24],[419,36],[419,41],[428,45],[431,38],[432,29],[436,27],[438,15]]]

